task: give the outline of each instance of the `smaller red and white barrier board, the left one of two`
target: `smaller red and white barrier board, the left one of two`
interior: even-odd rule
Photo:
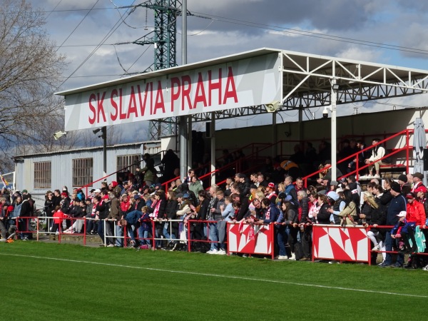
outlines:
[[[240,230],[239,224],[228,224],[228,250],[229,252],[264,254],[273,257],[273,229],[272,224],[254,226],[244,224],[242,230]]]

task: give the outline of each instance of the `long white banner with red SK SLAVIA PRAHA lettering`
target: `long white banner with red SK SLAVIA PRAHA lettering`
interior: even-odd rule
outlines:
[[[275,53],[73,93],[66,96],[65,130],[281,101],[280,66]]]

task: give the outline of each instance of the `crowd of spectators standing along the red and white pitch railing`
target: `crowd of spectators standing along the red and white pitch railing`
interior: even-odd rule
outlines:
[[[356,147],[364,148],[359,142]],[[322,178],[305,188],[302,178],[288,175],[295,166],[294,162],[286,161],[282,168],[288,166],[288,170],[279,183],[267,180],[263,172],[248,176],[235,173],[225,180],[223,188],[218,185],[204,188],[197,171],[189,170],[186,177],[177,178],[165,190],[165,185],[157,183],[156,175],[150,173],[154,172],[150,159],[145,155],[146,166],[137,170],[144,174],[145,180],[138,179],[137,173],[133,180],[103,182],[100,189],[91,190],[87,196],[81,189],[68,191],[66,186],[48,191],[44,212],[54,219],[46,224],[46,233],[86,232],[98,235],[102,245],[108,247],[123,247],[123,233],[126,233],[129,247],[151,248],[153,245],[165,250],[187,248],[190,233],[190,238],[195,240],[191,244],[193,250],[225,255],[228,222],[274,223],[275,257],[311,260],[313,224],[363,225],[370,228],[372,263],[380,252],[381,267],[426,265],[423,258],[415,254],[417,241],[424,238],[427,224],[427,188],[422,183],[422,173],[399,175],[397,182],[385,178],[382,184],[379,178],[373,177],[367,190],[362,192],[355,175],[339,182],[332,180],[331,161],[327,159]],[[347,163],[349,168],[354,165],[353,161]],[[274,166],[267,161],[263,168],[271,170]],[[340,175],[338,168],[337,177]],[[26,190],[11,195],[3,190],[2,194],[1,238],[14,237],[16,229],[24,231],[18,236],[21,240],[31,238],[29,220],[16,220],[34,216],[31,195]],[[204,223],[205,220],[208,223]],[[394,228],[379,228],[383,225],[394,225]],[[158,239],[154,244],[150,242],[153,237]],[[394,249],[398,254],[393,262],[389,252]],[[424,248],[419,248],[421,251]],[[404,263],[404,253],[411,254],[407,263]]]

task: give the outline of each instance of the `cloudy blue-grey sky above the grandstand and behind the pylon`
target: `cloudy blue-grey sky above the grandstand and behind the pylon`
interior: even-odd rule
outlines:
[[[61,90],[138,73],[153,63],[153,46],[131,44],[153,31],[153,11],[120,8],[143,0],[28,1],[46,12],[46,31],[66,55]],[[270,47],[428,70],[428,1],[188,0],[188,10],[194,15],[188,17],[189,63]],[[177,30],[180,63],[180,19]],[[426,98],[357,107],[420,107]]]

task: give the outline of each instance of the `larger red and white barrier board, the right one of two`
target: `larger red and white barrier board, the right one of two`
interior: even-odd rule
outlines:
[[[368,262],[367,230],[362,226],[313,225],[312,253],[314,259]]]

